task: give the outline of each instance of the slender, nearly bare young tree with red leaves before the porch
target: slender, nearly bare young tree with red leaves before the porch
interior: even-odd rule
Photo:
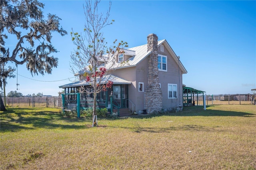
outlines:
[[[111,2],[106,14],[98,11],[100,0],[85,1],[84,14],[85,24],[84,33],[78,34],[72,30],[72,41],[76,45],[76,49],[71,54],[70,66],[74,74],[80,75],[80,80],[84,79],[91,86],[90,88],[82,88],[84,92],[93,94],[93,118],[96,113],[96,96],[97,93],[112,86],[112,82],[108,81],[109,74],[117,67],[118,62],[113,56],[114,53],[122,53],[122,47],[127,47],[127,42],[119,42],[114,40],[112,46],[107,46],[107,42],[103,36],[103,28],[112,24],[108,20],[110,16]],[[97,126],[94,119],[93,126]]]

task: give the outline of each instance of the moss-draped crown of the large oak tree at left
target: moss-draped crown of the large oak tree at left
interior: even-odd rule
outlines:
[[[67,32],[60,26],[58,16],[48,14],[44,19],[43,8],[44,4],[38,0],[0,1],[1,74],[4,74],[2,66],[7,62],[26,64],[32,76],[51,74],[52,68],[57,67],[58,58],[52,56],[52,53],[58,52],[51,44],[52,33],[64,36]],[[13,49],[5,45],[9,36],[17,39]],[[0,81],[2,85],[3,80]]]

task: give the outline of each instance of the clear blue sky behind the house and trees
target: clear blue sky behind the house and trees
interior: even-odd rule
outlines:
[[[52,44],[59,51],[54,56],[59,63],[52,74],[32,77],[25,65],[18,66],[17,91],[58,96],[62,90],[58,86],[74,80],[69,66],[75,48],[70,32],[72,28],[83,32],[84,0],[41,2],[45,15],[56,14],[62,19],[60,24],[68,35],[53,34]],[[108,3],[100,2],[100,11],[106,12]],[[158,40],[166,39],[188,71],[183,74],[183,84],[188,87],[206,94],[247,94],[256,88],[256,1],[114,0],[109,19],[115,22],[103,32],[110,43],[118,39],[128,42],[129,48],[140,46],[151,33]],[[11,50],[16,39],[8,41],[6,46]],[[6,92],[16,90],[17,79],[7,81]]]

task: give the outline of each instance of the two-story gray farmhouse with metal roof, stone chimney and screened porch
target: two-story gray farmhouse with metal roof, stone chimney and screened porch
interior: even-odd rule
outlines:
[[[156,34],[149,34],[147,44],[124,49],[124,53],[113,57],[117,62],[126,62],[105,78],[105,82],[111,80],[113,85],[98,94],[98,107],[109,108],[112,92],[113,104],[119,115],[122,115],[122,109],[138,114],[182,109],[182,74],[187,71],[166,40],[158,41]],[[108,67],[108,63],[103,64]],[[89,86],[81,79],[82,73],[78,74],[80,81],[59,87],[64,88],[65,93],[71,93],[78,92],[81,86]],[[92,107],[91,94],[81,94],[80,98],[86,100],[82,107]]]

